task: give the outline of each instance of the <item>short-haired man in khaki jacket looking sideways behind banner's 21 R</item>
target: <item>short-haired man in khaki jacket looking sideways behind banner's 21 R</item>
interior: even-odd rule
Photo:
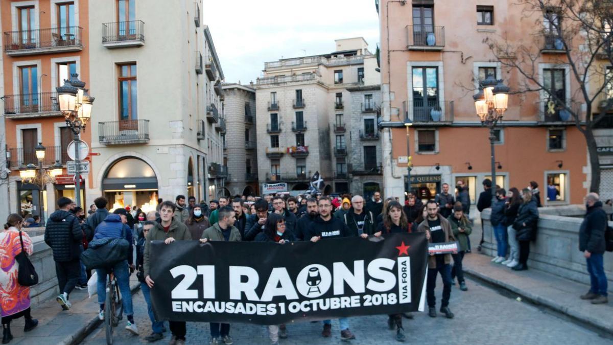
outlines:
[[[236,214],[232,207],[224,206],[218,211],[218,221],[212,227],[208,228],[202,234],[200,238],[201,243],[208,241],[226,241],[234,242],[240,241],[240,232],[234,226],[236,220]],[[232,337],[230,337],[230,324],[219,324],[218,322],[210,322],[211,327],[211,342],[210,344],[224,343],[226,345],[232,344]]]

